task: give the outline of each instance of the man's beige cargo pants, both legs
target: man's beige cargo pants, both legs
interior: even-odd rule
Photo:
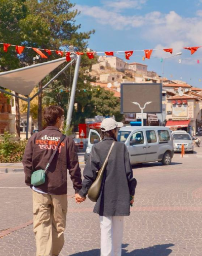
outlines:
[[[36,256],[59,255],[64,245],[67,195],[49,195],[33,191],[33,231]]]

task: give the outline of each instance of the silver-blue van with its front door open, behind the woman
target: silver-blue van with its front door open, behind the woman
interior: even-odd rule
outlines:
[[[100,134],[90,130],[85,162],[92,145],[101,140]],[[126,126],[118,131],[117,140],[124,142],[129,151],[131,164],[161,162],[170,165],[174,155],[173,138],[168,127],[164,126]]]

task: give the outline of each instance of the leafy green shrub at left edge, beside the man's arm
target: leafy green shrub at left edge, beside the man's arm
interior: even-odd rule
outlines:
[[[5,132],[0,141],[0,162],[21,162],[27,140],[14,141],[14,135]]]

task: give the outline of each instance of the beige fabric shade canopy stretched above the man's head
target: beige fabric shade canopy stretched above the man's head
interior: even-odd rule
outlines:
[[[51,71],[66,61],[66,57],[27,67],[0,72],[0,86],[28,96]]]

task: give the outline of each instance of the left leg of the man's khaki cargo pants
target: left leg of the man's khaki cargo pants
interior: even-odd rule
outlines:
[[[36,256],[52,256],[51,195],[33,191],[33,231]]]

